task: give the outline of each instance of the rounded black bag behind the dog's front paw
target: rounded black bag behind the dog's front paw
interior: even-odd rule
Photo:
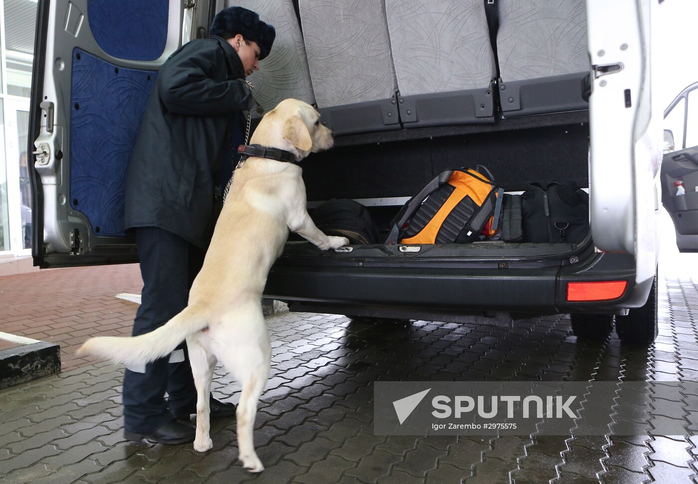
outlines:
[[[347,237],[350,244],[379,244],[378,228],[364,205],[348,198],[327,200],[311,219],[327,235]]]

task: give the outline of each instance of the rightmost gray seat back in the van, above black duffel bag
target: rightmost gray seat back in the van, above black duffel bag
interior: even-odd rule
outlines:
[[[588,109],[584,0],[499,0],[497,50],[505,117]]]

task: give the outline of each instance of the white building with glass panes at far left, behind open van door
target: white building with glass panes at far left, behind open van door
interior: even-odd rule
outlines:
[[[36,0],[0,0],[0,262],[31,254],[27,137],[36,8]]]

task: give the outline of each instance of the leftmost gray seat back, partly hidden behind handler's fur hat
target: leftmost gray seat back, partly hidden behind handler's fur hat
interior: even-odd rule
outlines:
[[[248,78],[254,96],[265,111],[272,110],[285,98],[296,98],[314,104],[313,85],[303,36],[292,0],[225,0],[225,7],[241,6],[254,10],[260,19],[276,29],[274,47],[260,62],[260,71]]]

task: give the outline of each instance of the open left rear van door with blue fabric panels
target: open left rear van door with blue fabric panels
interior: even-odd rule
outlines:
[[[28,147],[36,265],[137,260],[124,174],[158,67],[181,45],[185,3],[38,3]]]

